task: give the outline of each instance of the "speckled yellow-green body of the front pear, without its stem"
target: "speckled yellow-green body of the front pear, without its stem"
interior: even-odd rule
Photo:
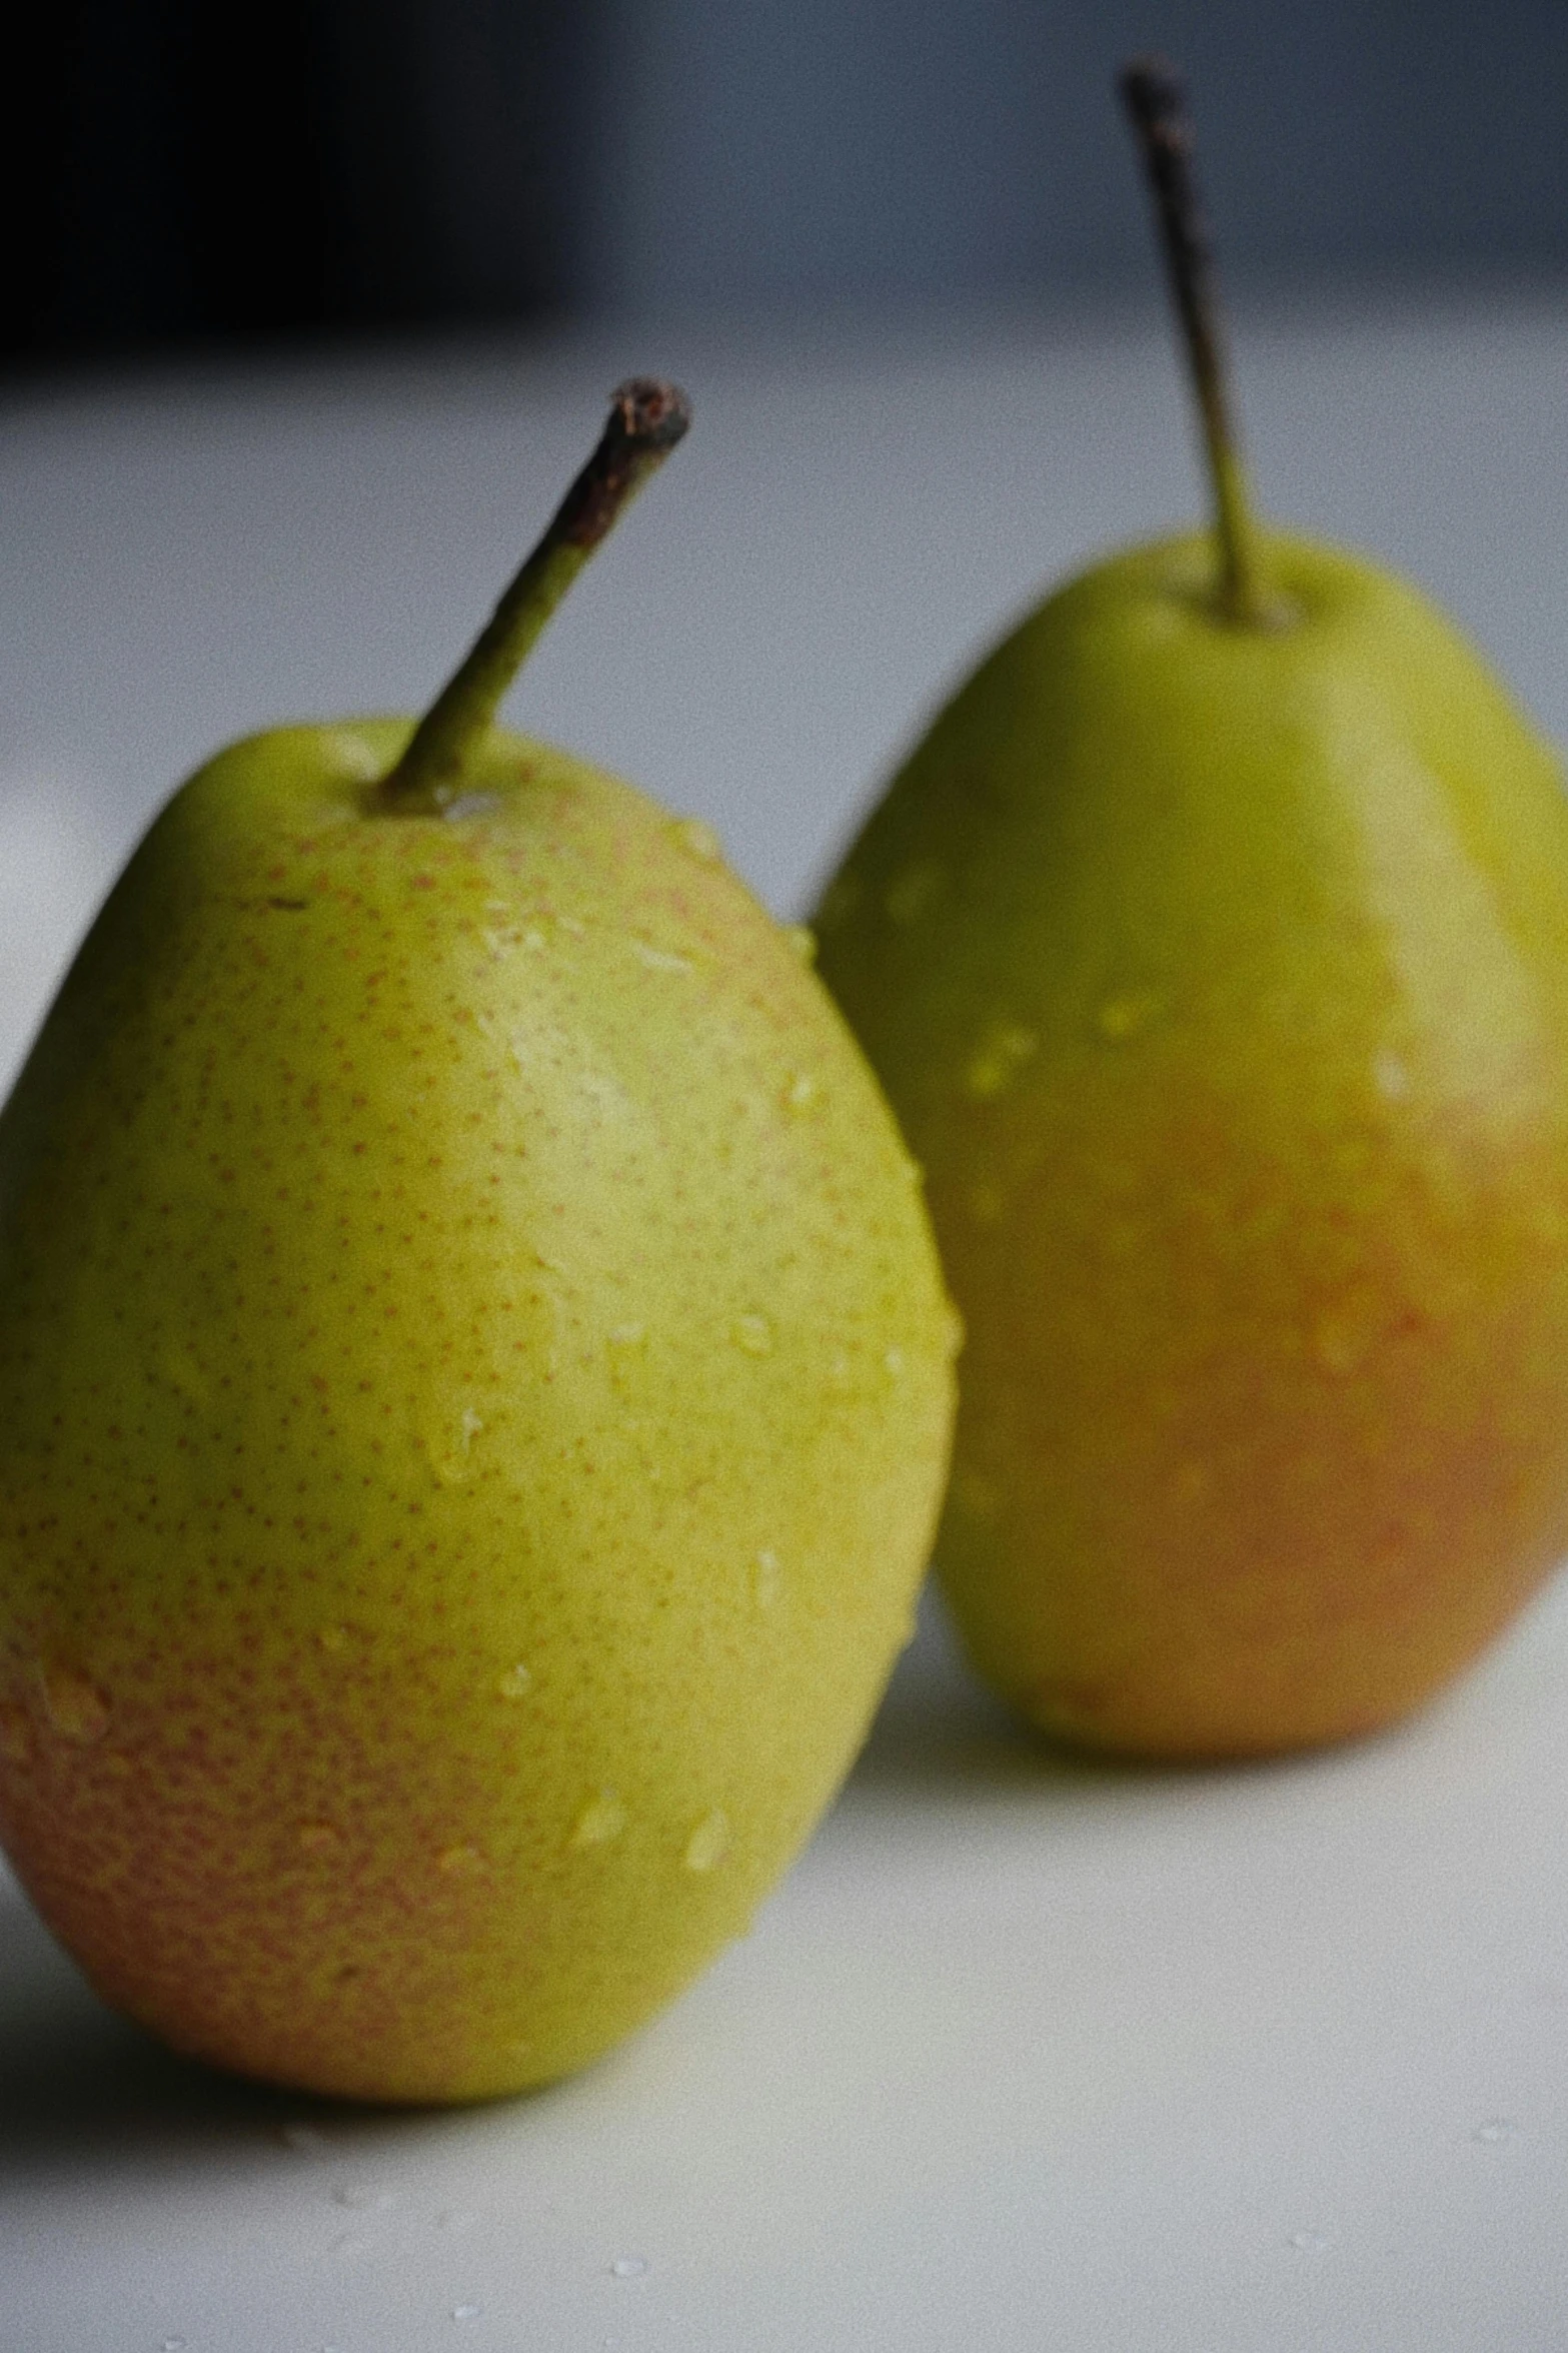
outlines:
[[[945,1478],[910,1158],[701,826],[494,732],[221,753],[0,1120],[0,1826],[181,2049],[444,2101],[738,1937]]]

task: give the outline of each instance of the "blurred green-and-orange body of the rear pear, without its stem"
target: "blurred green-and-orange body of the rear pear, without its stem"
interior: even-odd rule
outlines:
[[[1048,1732],[1368,1732],[1568,1544],[1568,807],[1410,588],[1119,555],[969,680],[820,969],[966,1322],[938,1567]]]

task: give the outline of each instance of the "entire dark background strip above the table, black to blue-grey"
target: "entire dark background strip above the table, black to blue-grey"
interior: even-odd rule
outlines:
[[[0,346],[898,311],[1147,273],[1175,54],[1227,275],[1561,275],[1563,0],[59,0]]]

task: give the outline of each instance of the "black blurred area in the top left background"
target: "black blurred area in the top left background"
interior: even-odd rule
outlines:
[[[595,0],[56,0],[12,78],[16,358],[571,294]]]

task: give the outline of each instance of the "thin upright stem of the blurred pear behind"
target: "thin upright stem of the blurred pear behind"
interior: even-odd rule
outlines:
[[[1119,87],[1154,195],[1166,273],[1204,424],[1215,539],[1220,541],[1220,609],[1229,621],[1260,628],[1272,619],[1272,605],[1258,574],[1253,504],[1232,424],[1213,254],[1192,174],[1187,94],[1175,68],[1159,56],[1140,56],[1124,66]]]

